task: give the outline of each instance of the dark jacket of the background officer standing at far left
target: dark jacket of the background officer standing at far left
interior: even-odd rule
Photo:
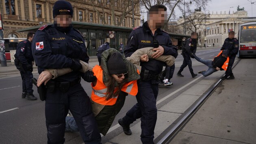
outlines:
[[[31,51],[31,42],[29,40],[21,41],[17,46],[14,57],[19,59],[23,66],[32,65],[34,58]]]

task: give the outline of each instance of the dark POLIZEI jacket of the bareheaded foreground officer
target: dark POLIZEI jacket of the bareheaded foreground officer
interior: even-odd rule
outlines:
[[[167,32],[157,29],[154,35],[148,27],[148,22],[143,23],[142,26],[133,28],[124,50],[125,56],[130,57],[137,49],[144,47],[153,47],[154,40],[158,40],[159,45],[164,48],[163,55],[172,55],[175,58],[178,56],[178,51],[175,46],[171,44],[171,39]],[[142,70],[149,70],[151,74],[160,74],[163,70],[163,61],[149,59],[148,62],[141,62]]]

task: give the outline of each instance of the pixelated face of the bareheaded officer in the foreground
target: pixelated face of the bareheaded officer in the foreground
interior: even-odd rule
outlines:
[[[167,23],[167,11],[163,8],[156,9],[149,14],[150,28],[162,28]]]

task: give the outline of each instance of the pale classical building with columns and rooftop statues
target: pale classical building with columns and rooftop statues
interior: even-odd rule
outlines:
[[[206,13],[207,12],[207,13]],[[246,23],[249,21],[256,21],[256,18],[251,18],[247,16],[247,11],[236,11],[232,14],[230,13],[210,13],[210,11],[206,12],[195,12],[193,15],[202,15],[200,20],[202,23],[197,25],[196,32],[198,33],[198,45],[203,47],[206,44],[206,47],[212,47],[213,43],[215,47],[221,47],[224,40],[228,38],[228,32],[233,30],[235,32],[235,37],[237,37],[237,33],[239,30],[239,25],[242,23]],[[200,21],[200,20],[194,20]],[[186,25],[190,23],[186,19]],[[180,32],[184,30],[184,19],[181,18],[178,20],[177,26],[179,27]],[[195,29],[192,29],[195,31]],[[186,34],[191,34],[191,30],[187,30]],[[182,31],[183,32],[183,31]]]

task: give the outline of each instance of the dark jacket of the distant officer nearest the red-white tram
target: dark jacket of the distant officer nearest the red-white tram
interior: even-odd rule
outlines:
[[[221,50],[228,50],[228,55],[229,56],[232,56],[232,55],[236,55],[238,53],[238,50],[239,50],[239,42],[236,38],[226,38],[222,47],[221,47]]]

